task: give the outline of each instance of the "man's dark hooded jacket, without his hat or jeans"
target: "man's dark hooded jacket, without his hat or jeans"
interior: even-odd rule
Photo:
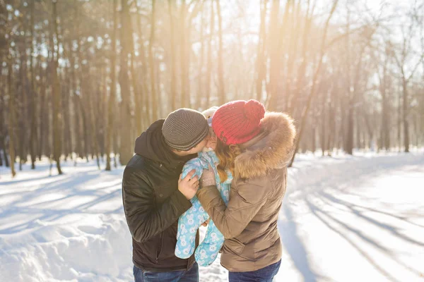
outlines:
[[[136,140],[134,157],[124,170],[122,197],[126,222],[133,238],[133,262],[146,271],[189,269],[189,259],[175,257],[178,218],[192,207],[178,190],[184,163],[162,135],[164,120],[153,123]],[[197,234],[196,246],[199,243]]]

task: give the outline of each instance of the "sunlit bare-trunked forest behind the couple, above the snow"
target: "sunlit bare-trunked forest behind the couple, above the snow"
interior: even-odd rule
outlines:
[[[0,58],[13,174],[110,170],[173,109],[235,99],[293,116],[298,152],[424,143],[421,0],[1,0]]]

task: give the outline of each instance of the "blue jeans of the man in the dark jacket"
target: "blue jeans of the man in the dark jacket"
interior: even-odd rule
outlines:
[[[199,282],[199,266],[195,262],[191,269],[170,272],[143,271],[134,266],[134,281],[136,282]]]

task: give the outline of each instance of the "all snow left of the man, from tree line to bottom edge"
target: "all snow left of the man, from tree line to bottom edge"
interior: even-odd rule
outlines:
[[[1,173],[0,281],[131,281],[122,168],[48,166]]]

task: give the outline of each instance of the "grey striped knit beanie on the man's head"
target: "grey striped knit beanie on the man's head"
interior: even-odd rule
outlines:
[[[208,121],[199,111],[177,109],[165,119],[162,126],[165,142],[172,149],[188,151],[208,135]]]

